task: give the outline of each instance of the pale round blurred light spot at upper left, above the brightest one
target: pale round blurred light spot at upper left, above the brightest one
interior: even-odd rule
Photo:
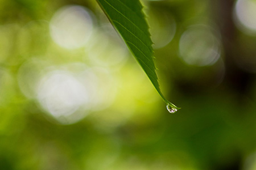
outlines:
[[[65,6],[53,15],[49,27],[56,44],[76,49],[84,46],[92,35],[93,20],[85,7]]]

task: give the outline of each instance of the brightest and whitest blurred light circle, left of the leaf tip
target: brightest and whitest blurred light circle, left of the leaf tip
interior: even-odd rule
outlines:
[[[37,95],[40,105],[58,119],[71,116],[88,103],[82,83],[71,73],[61,70],[49,72],[41,79]]]

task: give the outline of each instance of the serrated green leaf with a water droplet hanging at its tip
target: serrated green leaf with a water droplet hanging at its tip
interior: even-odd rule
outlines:
[[[151,35],[148,31],[148,24],[142,11],[141,2],[139,0],[97,0],[97,2],[122,36],[159,95],[166,102],[167,109],[169,108],[169,111],[170,109],[173,109],[172,111],[180,109],[170,103],[160,90],[158,76],[155,71]]]

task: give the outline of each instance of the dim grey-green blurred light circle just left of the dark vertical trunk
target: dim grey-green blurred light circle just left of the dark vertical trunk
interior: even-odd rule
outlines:
[[[220,40],[207,25],[193,25],[179,42],[180,58],[188,65],[213,65],[220,58]]]

